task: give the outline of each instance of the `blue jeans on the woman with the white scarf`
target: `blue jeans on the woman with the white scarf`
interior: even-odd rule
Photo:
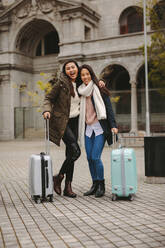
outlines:
[[[105,144],[103,134],[95,136],[94,132],[89,138],[85,135],[85,149],[92,180],[104,179],[104,166],[101,161],[101,154]]]

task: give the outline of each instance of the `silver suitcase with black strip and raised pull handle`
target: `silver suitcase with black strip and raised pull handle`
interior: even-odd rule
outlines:
[[[46,153],[33,154],[29,161],[29,193],[36,203],[53,201],[53,170],[49,155],[49,120],[45,121]]]

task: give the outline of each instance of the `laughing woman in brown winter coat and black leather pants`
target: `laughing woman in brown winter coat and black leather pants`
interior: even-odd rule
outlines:
[[[79,66],[70,59],[63,65],[59,80],[54,83],[50,93],[44,100],[44,118],[49,118],[50,140],[60,146],[61,139],[66,145],[66,159],[58,175],[53,177],[54,190],[61,195],[61,183],[65,178],[64,195],[76,197],[72,191],[74,162],[80,156],[78,139],[78,119],[80,113],[80,97],[77,87],[80,85]]]

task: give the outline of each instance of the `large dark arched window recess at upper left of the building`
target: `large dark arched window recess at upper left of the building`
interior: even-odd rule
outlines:
[[[51,23],[41,19],[33,20],[18,33],[16,49],[27,56],[58,54],[58,33]]]

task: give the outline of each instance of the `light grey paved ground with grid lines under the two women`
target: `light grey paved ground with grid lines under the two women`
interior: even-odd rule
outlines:
[[[44,150],[41,141],[0,142],[0,248],[165,247],[165,185],[144,183],[144,152],[136,148],[138,193],[134,201],[112,202],[110,149],[103,152],[106,194],[84,197],[91,179],[84,151],[75,166],[76,199],[54,194],[35,204],[28,193],[28,160]],[[64,147],[51,145],[54,172]]]

